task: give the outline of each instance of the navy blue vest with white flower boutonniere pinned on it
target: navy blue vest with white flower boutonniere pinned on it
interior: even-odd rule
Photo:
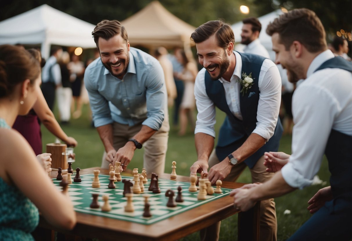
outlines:
[[[236,118],[228,108],[222,83],[219,80],[212,80],[208,71],[205,72],[205,87],[209,99],[214,102],[216,107],[226,113],[224,123],[219,131],[219,141],[215,149],[216,155],[221,161],[246,141],[248,136],[251,135],[252,131],[256,128],[257,123],[259,101],[258,79],[265,58],[249,53],[240,53],[240,56],[242,58],[241,73],[244,72],[247,75],[252,73],[253,78],[251,89],[249,89],[244,95],[240,93],[240,110],[243,121]],[[257,152],[245,160],[245,163],[249,168],[252,168],[256,164],[265,151],[278,150],[282,131],[282,125],[278,119],[274,136],[272,136]]]

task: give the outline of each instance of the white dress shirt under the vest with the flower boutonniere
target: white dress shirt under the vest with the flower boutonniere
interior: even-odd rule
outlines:
[[[239,101],[241,86],[236,81],[241,78],[242,59],[238,52],[233,51],[233,53],[236,58],[236,66],[230,82],[224,78],[220,78],[219,81],[224,85],[225,98],[229,109],[235,117],[242,119]],[[199,71],[195,80],[194,95],[198,114],[194,133],[202,132],[215,137],[215,105],[206,93],[205,71],[205,68]],[[257,126],[252,133],[257,133],[268,141],[274,135],[281,102],[280,73],[270,59],[265,59],[263,62],[259,72],[258,86],[260,93]]]

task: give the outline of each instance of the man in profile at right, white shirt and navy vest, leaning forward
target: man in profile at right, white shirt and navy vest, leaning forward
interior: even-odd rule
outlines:
[[[293,95],[292,155],[266,153],[275,176],[233,190],[234,205],[246,211],[258,200],[312,184],[325,154],[331,186],[308,201],[314,215],[289,240],[351,240],[352,64],[328,50],[324,27],[309,9],[281,15],[266,32],[289,81],[304,79]]]

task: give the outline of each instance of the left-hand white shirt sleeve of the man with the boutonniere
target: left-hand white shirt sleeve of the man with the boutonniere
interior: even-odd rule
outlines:
[[[199,71],[194,85],[194,96],[198,111],[194,133],[201,132],[215,138],[215,105],[214,102],[209,99],[205,89],[205,71],[205,69]]]

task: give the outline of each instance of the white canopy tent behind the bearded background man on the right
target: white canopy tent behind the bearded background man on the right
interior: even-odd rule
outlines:
[[[283,12],[281,11],[281,9],[277,9],[274,12],[265,14],[262,17],[258,18],[260,24],[262,24],[262,31],[260,31],[259,40],[260,40],[260,43],[262,43],[262,45],[266,48],[266,50],[268,50],[271,59],[275,58],[275,54],[272,51],[271,37],[268,34],[266,34],[265,31],[266,31],[266,27],[268,27],[268,24],[271,21],[273,21],[275,18],[277,18],[279,15],[281,15],[282,13]],[[241,42],[242,26],[243,26],[242,21],[236,22],[235,24],[232,25],[232,30],[235,34],[235,43]],[[236,44],[236,47],[235,47],[236,50],[241,51],[243,50],[243,48],[244,48],[243,44]]]

